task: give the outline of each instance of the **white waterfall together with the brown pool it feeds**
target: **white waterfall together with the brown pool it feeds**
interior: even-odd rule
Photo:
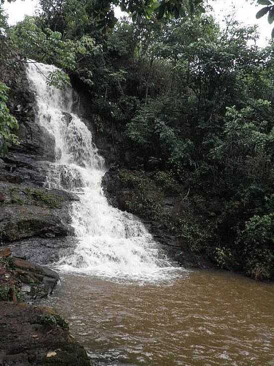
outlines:
[[[54,71],[28,65],[37,123],[55,137],[45,187],[80,201],[70,211],[75,250],[54,265],[61,285],[44,303],[68,320],[93,365],[274,365],[274,285],[174,267],[135,216],[111,207],[104,159],[72,89],[47,84]]]

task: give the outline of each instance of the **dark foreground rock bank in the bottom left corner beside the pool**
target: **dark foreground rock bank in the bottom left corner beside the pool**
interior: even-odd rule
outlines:
[[[0,365],[89,366],[66,323],[48,309],[1,303]]]

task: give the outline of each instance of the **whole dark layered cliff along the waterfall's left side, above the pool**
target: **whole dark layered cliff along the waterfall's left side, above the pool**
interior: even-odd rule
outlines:
[[[21,257],[46,264],[74,247],[70,203],[79,198],[44,188],[46,161],[55,160],[55,140],[35,120],[35,96],[22,63],[6,82],[20,144],[0,159],[0,246],[9,244]]]

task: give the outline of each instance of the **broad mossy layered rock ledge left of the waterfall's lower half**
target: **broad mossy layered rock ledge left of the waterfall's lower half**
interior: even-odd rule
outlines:
[[[70,226],[70,203],[79,198],[61,190],[48,190],[27,181],[0,182],[0,240],[12,253],[48,264],[75,246]]]

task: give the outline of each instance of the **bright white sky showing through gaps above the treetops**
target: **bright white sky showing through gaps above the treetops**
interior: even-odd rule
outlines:
[[[266,38],[271,37],[272,25],[268,23],[267,17],[256,19],[256,12],[260,7],[255,5],[254,0],[209,0],[209,2],[212,4],[216,17],[219,18],[220,22],[223,21],[226,14],[234,12],[236,19],[244,24],[258,24],[261,33],[259,45],[265,45]],[[36,6],[37,0],[16,0],[12,3],[5,1],[4,7],[9,15],[9,24],[15,24],[17,21],[22,20],[24,15],[34,14]],[[260,6],[262,7],[262,5]],[[118,9],[117,15],[119,13],[121,11]]]

